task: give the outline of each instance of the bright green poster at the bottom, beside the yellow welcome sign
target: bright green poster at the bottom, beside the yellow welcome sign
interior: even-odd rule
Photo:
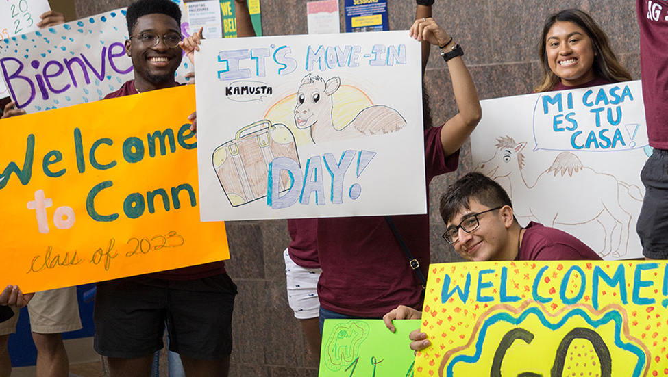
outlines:
[[[420,320],[325,320],[319,377],[411,377],[415,356],[408,334]]]

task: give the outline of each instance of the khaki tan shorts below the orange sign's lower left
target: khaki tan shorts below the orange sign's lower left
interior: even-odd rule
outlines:
[[[58,334],[82,328],[77,287],[40,291],[28,303],[30,330],[40,334]],[[18,309],[14,317],[0,324],[0,335],[16,332]]]

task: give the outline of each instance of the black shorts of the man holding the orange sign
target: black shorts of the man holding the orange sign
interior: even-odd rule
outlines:
[[[137,359],[162,349],[199,360],[232,353],[236,285],[227,274],[189,281],[135,276],[97,284],[95,351]]]

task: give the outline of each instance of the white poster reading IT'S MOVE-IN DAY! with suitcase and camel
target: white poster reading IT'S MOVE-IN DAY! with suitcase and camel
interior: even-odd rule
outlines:
[[[425,213],[420,59],[407,31],[204,40],[202,220]]]

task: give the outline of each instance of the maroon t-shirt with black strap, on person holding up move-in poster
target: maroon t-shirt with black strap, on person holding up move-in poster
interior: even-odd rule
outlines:
[[[445,158],[441,128],[424,132],[427,187],[433,177],[456,170],[459,161],[459,152]],[[429,198],[429,188],[425,194]],[[392,220],[427,276],[429,216]],[[422,283],[383,216],[319,219],[318,255],[323,269],[318,295],[324,309],[356,317],[382,317],[399,304],[421,310]]]

